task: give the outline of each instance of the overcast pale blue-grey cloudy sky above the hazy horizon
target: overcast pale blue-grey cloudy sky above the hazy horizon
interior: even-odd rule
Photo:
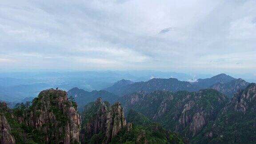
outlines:
[[[256,72],[256,0],[1,0],[0,70]]]

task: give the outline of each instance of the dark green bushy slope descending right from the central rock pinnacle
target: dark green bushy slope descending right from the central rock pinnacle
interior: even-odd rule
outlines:
[[[123,128],[112,138],[111,144],[184,144],[183,138],[164,130],[160,124],[151,122],[139,112],[130,110],[127,122],[132,123],[132,129]]]

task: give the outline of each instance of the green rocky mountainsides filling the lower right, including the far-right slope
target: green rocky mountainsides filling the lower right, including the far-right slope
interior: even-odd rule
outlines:
[[[130,109],[179,133],[193,144],[255,142],[256,84],[238,90],[231,100],[214,89],[199,92],[134,92],[122,97]]]

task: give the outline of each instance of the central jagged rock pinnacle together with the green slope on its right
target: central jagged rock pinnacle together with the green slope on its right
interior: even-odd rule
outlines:
[[[126,123],[120,103],[109,106],[101,98],[84,107],[82,120],[82,143],[86,144],[184,144],[185,141],[135,111],[129,112],[130,123]]]

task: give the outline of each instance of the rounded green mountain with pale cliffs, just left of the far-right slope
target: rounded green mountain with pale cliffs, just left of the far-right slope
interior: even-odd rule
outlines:
[[[215,120],[218,112],[227,103],[228,98],[214,90],[201,90],[185,97],[184,102],[176,106],[184,106],[176,124],[176,132],[192,138],[196,136],[209,121]]]

